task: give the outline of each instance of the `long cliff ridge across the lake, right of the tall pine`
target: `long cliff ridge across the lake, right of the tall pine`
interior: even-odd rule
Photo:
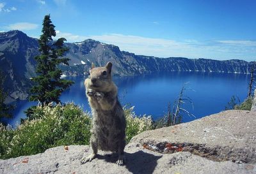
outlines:
[[[92,62],[97,66],[104,66],[106,62],[111,61],[113,62],[113,74],[120,76],[166,71],[249,73],[252,64],[241,60],[216,61],[211,59],[158,58],[135,55],[120,51],[115,45],[106,45],[94,40],[68,44],[68,47],[70,47],[70,52],[68,52],[67,57],[73,60],[72,66],[74,64],[79,66],[80,61],[83,61],[86,67],[84,70],[86,70]],[[82,75],[83,72],[77,71],[77,74]]]

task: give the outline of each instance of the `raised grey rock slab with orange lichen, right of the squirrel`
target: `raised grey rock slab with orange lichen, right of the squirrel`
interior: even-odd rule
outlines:
[[[130,143],[138,142],[148,149],[155,147],[157,152],[164,152],[166,146],[171,144],[182,147],[182,151],[214,161],[230,160],[254,164],[256,112],[220,112],[192,122],[141,133],[132,138]]]

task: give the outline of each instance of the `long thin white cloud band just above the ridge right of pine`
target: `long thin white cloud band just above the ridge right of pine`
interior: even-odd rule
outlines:
[[[116,45],[120,47],[120,50],[138,55],[188,58],[203,57],[218,60],[244,59],[246,61],[254,61],[256,59],[256,41],[175,41],[124,34],[80,36],[72,33],[61,33],[60,31],[57,31],[56,35],[56,38],[63,37],[68,42],[78,42],[91,38],[103,43]]]

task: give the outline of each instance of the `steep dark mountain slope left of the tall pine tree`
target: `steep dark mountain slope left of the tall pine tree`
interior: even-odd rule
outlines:
[[[26,99],[31,85],[29,77],[35,76],[38,41],[21,31],[0,33],[0,69],[6,76],[5,87],[12,99]]]

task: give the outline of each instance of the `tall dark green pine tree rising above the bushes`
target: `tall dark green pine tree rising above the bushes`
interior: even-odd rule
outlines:
[[[32,78],[35,86],[31,88],[33,95],[29,98],[30,101],[39,101],[42,105],[48,105],[51,102],[60,103],[61,92],[74,83],[61,79],[62,71],[58,66],[60,64],[68,65],[70,59],[63,57],[68,50],[63,46],[66,39],[52,40],[52,36],[56,36],[54,27],[50,15],[45,15],[42,35],[38,41],[41,55],[35,57],[38,76]]]

